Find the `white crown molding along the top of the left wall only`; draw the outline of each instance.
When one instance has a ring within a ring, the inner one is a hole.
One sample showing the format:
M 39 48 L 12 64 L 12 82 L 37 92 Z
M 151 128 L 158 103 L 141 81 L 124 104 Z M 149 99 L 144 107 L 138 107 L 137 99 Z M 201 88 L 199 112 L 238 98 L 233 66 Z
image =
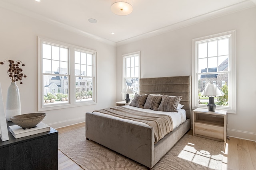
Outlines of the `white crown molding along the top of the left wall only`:
M 23 15 L 31 17 L 31 18 L 35 18 L 37 20 L 44 21 L 46 23 L 50 23 L 52 25 L 56 25 L 58 27 L 62 27 L 63 29 L 66 29 L 68 31 L 72 31 L 74 33 L 78 33 L 79 35 L 82 35 L 84 37 L 88 37 L 90 39 L 94 39 L 96 41 L 100 41 L 100 42 L 108 44 L 108 45 L 116 46 L 116 43 L 113 42 L 113 41 L 110 41 L 108 39 L 104 39 L 104 38 L 99 37 L 97 35 L 90 34 L 90 33 L 86 32 L 86 31 L 82 31 L 81 29 L 77 29 L 77 28 L 72 27 L 70 25 L 58 22 L 56 20 L 52 20 L 50 18 L 47 18 L 47 17 L 44 17 L 42 15 L 36 14 L 36 13 L 31 12 L 29 10 L 25 10 L 25 9 L 20 8 L 18 6 L 15 6 L 15 5 L 12 5 L 12 4 L 0 1 L 0 7 L 5 8 L 5 9 L 10 10 L 10 11 L 13 11 L 13 12 L 17 12 L 19 14 L 23 14 Z

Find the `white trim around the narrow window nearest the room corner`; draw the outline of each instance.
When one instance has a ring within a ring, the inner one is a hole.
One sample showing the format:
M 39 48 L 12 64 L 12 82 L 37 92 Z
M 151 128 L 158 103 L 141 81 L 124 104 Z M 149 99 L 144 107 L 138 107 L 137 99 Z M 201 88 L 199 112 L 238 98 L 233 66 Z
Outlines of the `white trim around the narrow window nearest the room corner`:
M 129 53 L 129 54 L 124 54 L 122 55 L 122 58 L 123 58 L 123 64 L 122 64 L 122 86 L 121 86 L 121 90 L 124 89 L 125 85 L 126 85 L 126 82 L 125 82 L 125 59 L 126 57 L 131 57 L 131 55 L 138 55 L 139 56 L 139 84 L 140 84 L 140 70 L 141 70 L 141 65 L 140 65 L 140 51 L 137 51 L 137 52 L 134 52 L 134 53 Z M 140 88 L 138 89 L 138 91 L 140 91 Z M 126 95 L 125 94 L 122 94 L 122 100 L 125 100 L 126 98 Z

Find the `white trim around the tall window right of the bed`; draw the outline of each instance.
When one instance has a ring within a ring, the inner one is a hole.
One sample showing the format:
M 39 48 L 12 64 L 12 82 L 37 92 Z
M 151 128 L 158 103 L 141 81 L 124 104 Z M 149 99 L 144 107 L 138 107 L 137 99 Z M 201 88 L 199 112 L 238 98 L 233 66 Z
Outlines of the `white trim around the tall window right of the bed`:
M 227 31 L 224 33 L 218 33 L 206 37 L 192 39 L 192 109 L 207 108 L 207 106 L 198 104 L 198 75 L 197 75 L 197 44 L 204 41 L 210 41 L 216 37 L 229 37 L 230 38 L 230 57 L 229 57 L 229 82 L 231 86 L 228 86 L 229 92 L 229 107 L 217 106 L 216 109 L 226 110 L 228 113 L 236 113 L 236 30 Z

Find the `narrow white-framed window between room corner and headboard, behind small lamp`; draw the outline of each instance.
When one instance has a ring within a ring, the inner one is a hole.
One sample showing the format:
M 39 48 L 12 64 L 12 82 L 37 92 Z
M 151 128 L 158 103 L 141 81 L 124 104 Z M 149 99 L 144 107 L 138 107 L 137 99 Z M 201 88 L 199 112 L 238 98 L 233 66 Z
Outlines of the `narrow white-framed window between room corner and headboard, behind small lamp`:
M 130 53 L 123 55 L 123 86 L 130 86 L 133 94 L 130 94 L 130 98 L 134 98 L 135 93 L 139 93 L 139 79 L 140 79 L 140 52 Z M 125 95 L 123 95 L 123 100 Z

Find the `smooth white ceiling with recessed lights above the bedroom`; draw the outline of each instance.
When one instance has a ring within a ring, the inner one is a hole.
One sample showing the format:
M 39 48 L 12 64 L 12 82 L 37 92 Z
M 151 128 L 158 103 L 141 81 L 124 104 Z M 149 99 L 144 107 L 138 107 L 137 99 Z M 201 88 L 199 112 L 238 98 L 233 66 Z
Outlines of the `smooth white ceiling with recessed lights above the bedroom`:
M 0 0 L 0 7 L 57 24 L 87 37 L 122 43 L 255 6 L 256 0 L 122 0 L 127 16 L 112 13 L 118 0 Z M 93 18 L 97 23 L 90 23 Z M 114 32 L 114 34 L 112 34 Z

